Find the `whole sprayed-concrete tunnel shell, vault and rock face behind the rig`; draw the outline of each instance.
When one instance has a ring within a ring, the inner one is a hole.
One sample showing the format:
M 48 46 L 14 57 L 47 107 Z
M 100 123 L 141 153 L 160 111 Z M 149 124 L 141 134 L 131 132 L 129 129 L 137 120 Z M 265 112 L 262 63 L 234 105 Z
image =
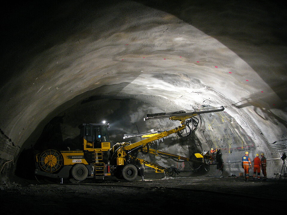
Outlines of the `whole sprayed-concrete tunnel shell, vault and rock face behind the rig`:
M 228 173 L 241 171 L 245 151 L 252 159 L 264 152 L 278 172 L 287 145 L 286 11 L 238 4 L 63 1 L 9 8 L 0 164 L 24 149 L 55 145 L 43 134 L 52 122 L 62 144 L 78 135 L 79 124 L 108 120 L 116 143 L 125 133 L 178 126 L 144 122 L 146 114 L 224 106 L 198 117 L 193 138 L 170 136 L 160 148 L 187 157 L 219 148 Z

